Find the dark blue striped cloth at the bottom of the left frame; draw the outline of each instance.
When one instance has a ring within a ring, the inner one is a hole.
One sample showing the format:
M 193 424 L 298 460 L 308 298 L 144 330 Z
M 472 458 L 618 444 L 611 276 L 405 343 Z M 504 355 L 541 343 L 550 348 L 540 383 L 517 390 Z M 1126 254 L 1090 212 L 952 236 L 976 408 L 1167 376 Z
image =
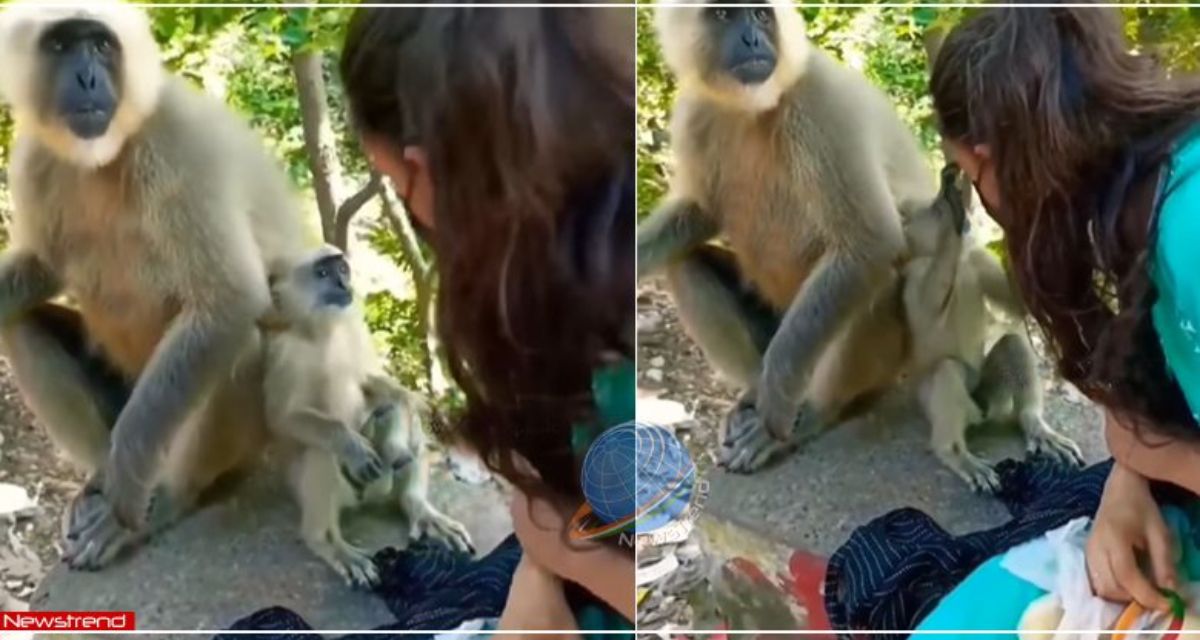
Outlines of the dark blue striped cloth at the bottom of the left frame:
M 509 536 L 491 554 L 478 561 L 434 542 L 419 540 L 403 551 L 384 549 L 376 554 L 380 582 L 376 594 L 383 598 L 396 621 L 376 630 L 454 629 L 470 620 L 499 617 L 509 597 L 512 574 L 521 561 L 521 544 Z M 272 640 L 312 640 L 312 627 L 294 611 L 272 606 L 235 622 L 229 630 L 281 632 L 254 635 Z M 217 635 L 233 640 L 236 635 Z M 342 640 L 379 639 L 388 635 L 346 635 Z M 400 635 L 395 638 L 401 638 Z M 406 639 L 432 635 L 404 635 Z

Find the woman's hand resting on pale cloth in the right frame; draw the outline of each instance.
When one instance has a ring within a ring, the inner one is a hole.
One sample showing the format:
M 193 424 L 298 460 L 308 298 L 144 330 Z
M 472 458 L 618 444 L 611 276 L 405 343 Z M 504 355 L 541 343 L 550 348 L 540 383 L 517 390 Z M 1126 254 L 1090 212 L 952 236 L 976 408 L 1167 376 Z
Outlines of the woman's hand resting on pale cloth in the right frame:
M 1134 599 L 1147 609 L 1168 611 L 1170 603 L 1138 564 L 1139 552 L 1148 552 L 1159 587 L 1176 586 L 1174 538 L 1150 492 L 1150 482 L 1116 462 L 1087 539 L 1092 590 L 1106 600 Z

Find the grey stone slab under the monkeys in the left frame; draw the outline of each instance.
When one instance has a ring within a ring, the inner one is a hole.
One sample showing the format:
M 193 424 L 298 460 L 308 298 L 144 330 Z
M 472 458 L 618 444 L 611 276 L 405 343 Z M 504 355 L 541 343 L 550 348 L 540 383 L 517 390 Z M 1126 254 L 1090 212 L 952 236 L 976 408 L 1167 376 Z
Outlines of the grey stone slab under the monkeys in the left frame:
M 132 610 L 139 630 L 222 629 L 281 605 L 319 629 L 370 629 L 390 622 L 382 600 L 354 591 L 300 542 L 299 513 L 280 473 L 250 478 L 227 498 L 98 573 L 58 564 L 34 610 Z M 470 531 L 480 552 L 511 531 L 508 501 L 493 483 L 470 485 L 434 471 L 432 500 Z M 347 520 L 347 536 L 378 549 L 404 543 L 398 518 Z

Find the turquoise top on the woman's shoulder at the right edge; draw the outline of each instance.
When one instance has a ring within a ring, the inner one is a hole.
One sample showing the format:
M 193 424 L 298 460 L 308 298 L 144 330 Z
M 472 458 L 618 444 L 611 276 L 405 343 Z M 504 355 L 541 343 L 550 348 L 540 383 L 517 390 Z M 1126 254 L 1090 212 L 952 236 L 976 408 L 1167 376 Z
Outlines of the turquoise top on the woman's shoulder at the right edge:
M 1166 365 L 1200 423 L 1200 126 L 1171 157 L 1158 211 L 1152 310 Z

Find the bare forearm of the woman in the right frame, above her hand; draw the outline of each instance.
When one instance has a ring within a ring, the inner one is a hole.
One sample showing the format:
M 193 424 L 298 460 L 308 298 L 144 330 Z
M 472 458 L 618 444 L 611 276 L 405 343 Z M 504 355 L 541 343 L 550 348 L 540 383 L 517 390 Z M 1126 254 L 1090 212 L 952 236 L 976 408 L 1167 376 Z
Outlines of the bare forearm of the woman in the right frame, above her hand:
M 1200 442 L 1172 439 L 1148 429 L 1134 431 L 1109 412 L 1104 435 L 1112 457 L 1126 467 L 1200 495 Z

